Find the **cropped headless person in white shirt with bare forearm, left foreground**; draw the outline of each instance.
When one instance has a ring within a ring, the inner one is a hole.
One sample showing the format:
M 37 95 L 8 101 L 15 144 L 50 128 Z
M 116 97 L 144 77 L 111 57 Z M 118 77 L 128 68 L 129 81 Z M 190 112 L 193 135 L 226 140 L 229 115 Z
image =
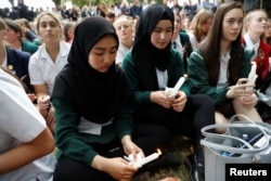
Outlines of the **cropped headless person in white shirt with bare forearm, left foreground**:
M 52 181 L 54 140 L 12 74 L 0 68 L 0 180 Z

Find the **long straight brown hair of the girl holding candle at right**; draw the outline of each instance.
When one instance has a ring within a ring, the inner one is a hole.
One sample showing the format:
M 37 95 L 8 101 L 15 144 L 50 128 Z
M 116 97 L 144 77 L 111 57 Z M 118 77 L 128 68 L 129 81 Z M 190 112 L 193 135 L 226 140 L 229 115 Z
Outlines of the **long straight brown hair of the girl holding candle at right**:
M 241 2 L 232 1 L 229 3 L 222 3 L 216 11 L 216 15 L 212 20 L 212 25 L 207 34 L 205 40 L 199 44 L 199 50 L 204 57 L 206 68 L 208 70 L 209 82 L 211 86 L 216 86 L 219 78 L 220 70 L 220 52 L 221 52 L 221 37 L 223 31 L 224 15 L 233 10 L 241 9 L 243 11 L 243 4 Z M 229 63 L 229 78 L 230 85 L 235 82 L 240 78 L 243 60 L 243 48 L 241 44 L 242 33 L 237 36 L 236 40 L 231 43 L 231 60 Z

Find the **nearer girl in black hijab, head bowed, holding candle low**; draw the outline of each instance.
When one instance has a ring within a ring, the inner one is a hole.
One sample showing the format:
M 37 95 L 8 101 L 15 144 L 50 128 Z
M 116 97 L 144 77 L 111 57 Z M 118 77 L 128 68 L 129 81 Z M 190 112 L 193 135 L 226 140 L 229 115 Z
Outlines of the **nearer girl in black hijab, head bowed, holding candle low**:
M 152 154 L 168 141 L 163 127 L 132 141 L 132 92 L 115 66 L 117 49 L 115 28 L 105 18 L 77 25 L 68 64 L 52 93 L 59 148 L 54 181 L 129 181 L 138 169 L 121 157 Z

